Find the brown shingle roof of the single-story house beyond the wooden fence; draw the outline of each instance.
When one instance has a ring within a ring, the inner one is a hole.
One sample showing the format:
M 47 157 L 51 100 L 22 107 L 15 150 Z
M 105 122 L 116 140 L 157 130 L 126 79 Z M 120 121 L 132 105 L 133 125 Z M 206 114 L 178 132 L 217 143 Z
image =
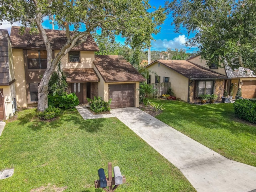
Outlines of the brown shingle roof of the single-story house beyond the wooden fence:
M 190 80 L 199 80 L 199 79 L 228 79 L 227 76 L 208 70 L 197 64 L 192 64 L 186 60 L 156 60 L 151 64 L 159 62 L 168 68 L 182 74 Z M 150 66 L 149 64 L 148 66 Z

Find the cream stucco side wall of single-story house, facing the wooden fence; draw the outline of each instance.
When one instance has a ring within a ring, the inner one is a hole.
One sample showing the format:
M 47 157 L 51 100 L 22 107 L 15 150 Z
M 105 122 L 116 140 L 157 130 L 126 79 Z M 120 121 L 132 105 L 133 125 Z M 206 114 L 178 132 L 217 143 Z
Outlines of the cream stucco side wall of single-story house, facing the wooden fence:
M 157 75 L 160 76 L 160 82 L 164 81 L 164 77 L 169 77 L 171 87 L 174 90 L 176 97 L 188 102 L 188 78 L 164 66 L 163 64 L 158 66 L 158 62 L 151 64 L 147 68 L 156 72 Z M 155 83 L 155 74 L 151 74 L 151 82 Z

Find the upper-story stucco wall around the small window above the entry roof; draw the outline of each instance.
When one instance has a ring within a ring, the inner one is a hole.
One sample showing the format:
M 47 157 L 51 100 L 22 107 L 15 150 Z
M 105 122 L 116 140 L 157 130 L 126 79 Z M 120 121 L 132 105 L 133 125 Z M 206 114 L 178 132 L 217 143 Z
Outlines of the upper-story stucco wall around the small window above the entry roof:
M 59 51 L 54 51 L 56 56 Z M 81 51 L 80 52 L 80 63 L 69 63 L 68 54 L 66 54 L 62 60 L 61 64 L 63 68 L 93 68 L 94 52 L 93 51 Z

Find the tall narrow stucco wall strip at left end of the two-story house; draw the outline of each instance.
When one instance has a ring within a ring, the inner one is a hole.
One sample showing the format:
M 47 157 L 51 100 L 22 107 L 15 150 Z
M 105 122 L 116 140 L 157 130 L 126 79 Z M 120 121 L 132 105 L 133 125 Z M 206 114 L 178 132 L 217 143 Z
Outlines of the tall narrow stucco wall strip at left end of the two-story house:
M 24 69 L 24 58 L 22 49 L 12 49 L 13 54 L 13 68 L 16 78 L 16 102 L 18 107 L 27 107 L 26 98 L 26 80 Z

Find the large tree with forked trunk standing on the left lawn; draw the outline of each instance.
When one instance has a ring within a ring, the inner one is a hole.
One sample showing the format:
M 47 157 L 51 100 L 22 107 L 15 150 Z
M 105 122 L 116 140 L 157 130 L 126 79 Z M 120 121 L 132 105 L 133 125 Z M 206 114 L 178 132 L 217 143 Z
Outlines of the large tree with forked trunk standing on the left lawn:
M 165 19 L 163 8 L 150 8 L 148 0 L 0 0 L 0 22 L 21 22 L 44 40 L 47 68 L 38 86 L 38 110 L 48 107 L 48 82 L 58 62 L 90 33 L 101 30 L 104 36 L 125 37 L 131 47 L 149 46 Z M 54 17 L 54 23 L 66 32 L 67 41 L 54 59 L 42 26 L 45 17 Z M 71 26 L 75 33 L 70 33 Z

